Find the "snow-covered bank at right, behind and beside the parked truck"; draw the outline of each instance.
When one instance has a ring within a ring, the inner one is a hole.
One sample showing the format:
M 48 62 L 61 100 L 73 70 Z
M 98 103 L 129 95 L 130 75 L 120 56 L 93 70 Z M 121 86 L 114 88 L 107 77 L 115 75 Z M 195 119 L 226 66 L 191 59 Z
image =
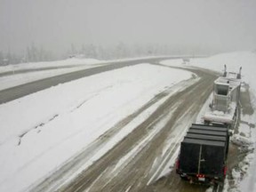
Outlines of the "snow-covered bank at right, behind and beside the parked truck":
M 232 191 L 256 191 L 256 53 L 255 52 L 230 52 L 212 56 L 204 59 L 191 59 L 186 64 L 183 60 L 163 60 L 164 65 L 180 66 L 190 68 L 196 66 L 199 68 L 209 68 L 220 72 L 224 70 L 224 64 L 227 65 L 227 71 L 238 73 L 242 67 L 242 81 L 250 86 L 250 99 L 254 113 L 251 116 L 241 116 L 243 122 L 239 126 L 239 132 L 232 137 L 233 142 L 243 146 L 249 146 L 249 154 L 245 156 L 244 161 L 238 166 L 238 169 L 232 171 L 232 177 L 235 181 L 235 188 Z M 223 72 L 223 71 L 222 71 Z M 241 90 L 244 92 L 244 89 Z M 252 127 L 249 126 L 251 124 Z M 226 185 L 226 189 L 228 186 Z

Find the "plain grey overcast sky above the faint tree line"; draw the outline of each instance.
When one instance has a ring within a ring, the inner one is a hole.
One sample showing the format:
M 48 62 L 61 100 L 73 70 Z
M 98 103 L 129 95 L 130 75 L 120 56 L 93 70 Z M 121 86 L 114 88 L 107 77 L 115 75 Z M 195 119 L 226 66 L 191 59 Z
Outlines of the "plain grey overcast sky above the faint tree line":
M 34 42 L 256 49 L 256 0 L 0 0 L 0 51 Z

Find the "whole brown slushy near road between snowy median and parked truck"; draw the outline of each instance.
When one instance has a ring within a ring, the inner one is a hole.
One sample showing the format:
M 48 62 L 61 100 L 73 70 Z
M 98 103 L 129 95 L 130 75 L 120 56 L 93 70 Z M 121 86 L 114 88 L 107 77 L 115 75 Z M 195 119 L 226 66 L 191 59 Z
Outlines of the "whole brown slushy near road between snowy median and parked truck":
M 168 183 L 164 182 L 164 184 L 156 180 L 161 169 L 164 169 L 164 166 L 172 158 L 176 158 L 175 151 L 179 148 L 182 135 L 186 132 L 186 126 L 195 122 L 198 111 L 212 92 L 212 82 L 217 77 L 216 74 L 206 70 L 188 70 L 201 78 L 198 81 L 191 78 L 187 82 L 182 82 L 183 87 L 187 88 L 180 92 L 173 94 L 172 87 L 170 90 L 160 92 L 145 106 L 131 116 L 124 118 L 98 140 L 95 140 L 90 148 L 85 148 L 68 164 L 54 172 L 52 176 L 39 183 L 31 191 L 153 192 L 160 191 L 158 188 L 165 191 L 174 191 L 174 189 L 177 191 L 205 191 L 205 187 L 190 188 L 186 183 L 180 182 L 177 175 L 173 175 L 172 180 L 169 180 Z M 65 182 L 68 176 L 72 175 L 72 172 L 76 172 L 83 164 L 86 164 L 86 161 L 90 159 L 90 156 L 93 156 L 95 151 L 97 152 L 104 147 L 115 136 L 116 132 L 120 132 L 126 124 L 131 123 L 134 118 L 140 116 L 141 113 L 164 97 L 166 97 L 164 103 L 133 132 L 129 133 L 124 140 L 118 142 L 107 154 L 94 162 L 84 172 L 81 172 L 75 180 Z M 167 123 L 162 124 L 161 122 L 166 118 L 168 119 Z M 157 126 L 157 124 L 162 125 Z M 152 132 L 156 132 L 156 127 L 160 127 L 157 133 L 150 136 Z M 147 139 L 148 137 L 150 139 Z M 167 149 L 165 148 L 166 143 L 170 143 Z M 136 156 L 126 159 L 133 150 L 138 150 Z M 163 151 L 165 151 L 164 154 Z M 122 162 L 122 159 L 126 159 L 126 161 L 116 169 L 116 164 Z M 156 162 L 157 165 L 154 166 Z M 156 180 L 156 186 L 155 182 L 152 185 L 147 185 L 152 178 L 153 181 Z M 171 188 L 170 183 L 172 183 Z

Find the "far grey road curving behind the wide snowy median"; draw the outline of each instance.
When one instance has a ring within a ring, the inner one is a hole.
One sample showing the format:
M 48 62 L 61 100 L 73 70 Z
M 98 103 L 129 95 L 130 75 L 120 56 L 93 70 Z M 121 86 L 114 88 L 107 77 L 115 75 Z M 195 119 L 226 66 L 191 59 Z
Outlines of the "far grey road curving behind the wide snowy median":
M 3 104 L 5 102 L 9 102 L 11 100 L 19 99 L 20 97 L 26 96 L 28 94 L 31 94 L 33 92 L 39 92 L 41 90 L 47 89 L 51 86 L 55 86 L 57 84 L 63 84 L 67 83 L 69 81 L 73 81 L 79 78 L 82 78 L 84 76 L 92 76 L 95 74 L 99 74 L 108 70 L 113 70 L 116 68 L 124 68 L 127 66 L 137 65 L 140 63 L 147 63 L 147 62 L 157 62 L 159 60 L 164 59 L 178 59 L 179 57 L 172 57 L 172 58 L 157 58 L 157 59 L 141 59 L 141 60 L 132 60 L 132 61 L 118 61 L 118 62 L 112 62 L 108 63 L 104 66 L 96 67 L 96 68 L 87 68 L 84 70 L 60 75 L 60 76 L 53 76 L 50 78 L 45 78 L 43 80 L 38 80 L 32 83 L 28 84 L 22 84 L 19 86 L 12 87 L 10 89 L 6 89 L 3 91 L 0 91 L 0 104 Z M 28 71 L 22 71 L 24 75 Z

